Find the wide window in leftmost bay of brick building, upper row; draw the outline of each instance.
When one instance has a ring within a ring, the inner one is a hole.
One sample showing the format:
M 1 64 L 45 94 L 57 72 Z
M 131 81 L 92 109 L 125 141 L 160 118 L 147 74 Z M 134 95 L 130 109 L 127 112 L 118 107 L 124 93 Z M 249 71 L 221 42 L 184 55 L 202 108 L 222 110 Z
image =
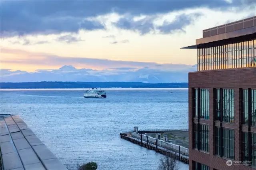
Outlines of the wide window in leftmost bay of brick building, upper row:
M 209 119 L 209 89 L 200 89 L 200 118 Z

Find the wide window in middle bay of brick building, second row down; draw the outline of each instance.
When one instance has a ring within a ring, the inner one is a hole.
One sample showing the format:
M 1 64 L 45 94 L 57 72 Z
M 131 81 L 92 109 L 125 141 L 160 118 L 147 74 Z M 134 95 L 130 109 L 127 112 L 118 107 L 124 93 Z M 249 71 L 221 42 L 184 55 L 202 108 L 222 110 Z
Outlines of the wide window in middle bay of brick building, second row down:
M 223 129 L 223 156 L 234 159 L 234 130 Z

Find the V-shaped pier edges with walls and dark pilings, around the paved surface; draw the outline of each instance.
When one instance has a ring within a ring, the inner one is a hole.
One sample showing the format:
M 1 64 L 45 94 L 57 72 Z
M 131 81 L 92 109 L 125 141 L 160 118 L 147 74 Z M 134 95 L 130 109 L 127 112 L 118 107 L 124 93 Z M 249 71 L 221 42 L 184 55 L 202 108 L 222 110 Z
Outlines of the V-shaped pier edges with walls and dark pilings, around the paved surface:
M 189 152 L 188 148 L 183 146 L 170 143 L 168 141 L 161 140 L 161 133 L 166 132 L 179 132 L 188 131 L 188 129 L 149 129 L 149 130 L 138 130 L 138 127 L 134 127 L 134 130 L 126 131 L 120 133 L 120 138 L 128 140 L 134 144 L 138 144 L 150 150 L 155 150 L 156 152 L 172 156 L 181 162 L 188 164 Z M 150 135 L 158 135 L 159 138 L 153 138 Z M 163 138 L 164 139 L 164 138 Z

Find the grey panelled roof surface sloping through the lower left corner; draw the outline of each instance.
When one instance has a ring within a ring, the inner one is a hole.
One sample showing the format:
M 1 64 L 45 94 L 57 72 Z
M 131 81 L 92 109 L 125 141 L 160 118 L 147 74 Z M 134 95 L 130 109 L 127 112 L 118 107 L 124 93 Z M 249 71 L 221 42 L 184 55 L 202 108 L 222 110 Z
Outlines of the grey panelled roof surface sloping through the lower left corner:
M 67 170 L 18 115 L 0 114 L 3 170 Z

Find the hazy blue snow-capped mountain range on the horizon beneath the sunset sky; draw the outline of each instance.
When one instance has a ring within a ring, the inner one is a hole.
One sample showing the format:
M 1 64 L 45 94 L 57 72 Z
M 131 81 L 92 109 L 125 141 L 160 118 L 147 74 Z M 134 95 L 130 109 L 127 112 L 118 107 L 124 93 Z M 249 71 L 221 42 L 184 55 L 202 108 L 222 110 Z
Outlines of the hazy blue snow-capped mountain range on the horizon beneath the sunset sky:
M 182 83 L 188 82 L 188 72 L 196 71 L 196 65 L 183 68 L 156 69 L 143 67 L 134 69 L 121 67 L 114 69 L 76 69 L 64 65 L 59 69 L 37 70 L 35 72 L 1 69 L 1 82 L 41 82 L 41 81 L 79 81 L 79 82 L 143 82 L 143 83 Z

